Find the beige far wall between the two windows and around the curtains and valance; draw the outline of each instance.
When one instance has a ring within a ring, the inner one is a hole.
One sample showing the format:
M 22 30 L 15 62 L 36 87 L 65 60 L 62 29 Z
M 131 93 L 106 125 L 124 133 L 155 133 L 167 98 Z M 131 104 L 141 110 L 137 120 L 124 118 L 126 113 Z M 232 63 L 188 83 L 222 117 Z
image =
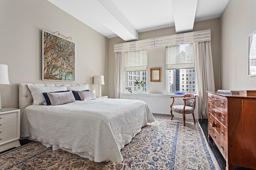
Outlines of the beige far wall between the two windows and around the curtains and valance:
M 204 29 L 211 29 L 212 33 L 212 58 L 214 67 L 214 81 L 215 88 L 220 88 L 220 19 L 213 19 L 207 21 L 200 21 L 194 23 L 193 31 L 200 31 Z M 162 37 L 166 35 L 176 34 L 175 27 L 168 27 L 154 31 L 146 31 L 139 33 L 139 40 L 149 39 L 154 37 Z M 114 97 L 114 44 L 124 43 L 119 37 L 109 39 L 109 96 Z M 162 82 L 150 83 L 148 77 L 147 90 L 150 93 L 165 93 L 165 48 L 154 48 L 148 50 L 148 72 L 151 67 L 162 67 Z M 149 74 L 148 74 L 149 75 Z

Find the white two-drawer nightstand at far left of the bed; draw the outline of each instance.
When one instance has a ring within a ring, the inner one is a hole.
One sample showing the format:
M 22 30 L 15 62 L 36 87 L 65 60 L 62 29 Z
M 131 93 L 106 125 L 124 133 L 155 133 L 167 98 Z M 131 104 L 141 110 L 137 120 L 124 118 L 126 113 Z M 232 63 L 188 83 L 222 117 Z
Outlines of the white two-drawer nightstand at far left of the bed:
M 0 110 L 0 152 L 20 147 L 20 109 L 3 107 Z

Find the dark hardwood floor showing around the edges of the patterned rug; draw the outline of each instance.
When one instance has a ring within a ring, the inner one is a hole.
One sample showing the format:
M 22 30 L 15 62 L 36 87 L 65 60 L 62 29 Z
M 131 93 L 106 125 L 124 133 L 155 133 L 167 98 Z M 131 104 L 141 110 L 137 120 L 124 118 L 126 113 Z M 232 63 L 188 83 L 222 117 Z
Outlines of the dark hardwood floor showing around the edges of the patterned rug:
M 154 114 L 154 115 L 162 115 L 162 114 Z M 166 115 L 164 115 L 164 116 L 166 116 Z M 201 127 L 204 131 L 204 135 L 206 136 L 206 139 L 208 140 L 208 146 L 209 146 L 209 148 L 212 151 L 213 156 L 214 156 L 213 159 L 215 159 L 217 164 L 218 164 L 217 165 L 218 169 L 219 170 L 226 170 L 226 160 L 223 158 L 222 154 L 218 150 L 215 143 L 208 139 L 208 119 L 199 119 L 199 123 L 200 123 L 200 125 L 201 125 Z M 27 140 L 27 139 L 23 139 L 23 140 L 20 140 L 20 145 L 26 145 L 30 142 L 32 142 L 32 141 Z M 8 149 L 8 150 L 11 150 L 11 149 Z M 8 150 L 5 150 L 3 152 L 6 152 Z M 3 152 L 0 152 L 0 154 L 3 153 Z M 252 170 L 252 169 L 236 166 L 236 170 Z

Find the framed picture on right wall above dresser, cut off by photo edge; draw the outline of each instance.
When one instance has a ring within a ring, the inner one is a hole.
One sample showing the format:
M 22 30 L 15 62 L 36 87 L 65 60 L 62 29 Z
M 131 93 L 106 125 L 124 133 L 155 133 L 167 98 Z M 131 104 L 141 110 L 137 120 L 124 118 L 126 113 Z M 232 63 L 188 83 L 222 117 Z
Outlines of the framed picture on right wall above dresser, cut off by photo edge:
M 248 76 L 256 76 L 256 31 L 248 36 Z

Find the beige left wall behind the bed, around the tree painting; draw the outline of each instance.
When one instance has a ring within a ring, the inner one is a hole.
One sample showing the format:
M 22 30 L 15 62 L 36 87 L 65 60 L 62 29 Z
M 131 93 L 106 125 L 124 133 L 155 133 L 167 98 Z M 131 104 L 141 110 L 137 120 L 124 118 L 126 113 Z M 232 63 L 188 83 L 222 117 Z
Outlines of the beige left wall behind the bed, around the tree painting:
M 10 80 L 9 85 L 0 85 L 2 107 L 18 107 L 21 82 L 93 84 L 94 75 L 104 75 L 102 95 L 108 95 L 106 37 L 47 0 L 1 0 L 0 18 L 0 63 L 8 65 Z M 42 80 L 42 30 L 72 37 L 75 82 Z

